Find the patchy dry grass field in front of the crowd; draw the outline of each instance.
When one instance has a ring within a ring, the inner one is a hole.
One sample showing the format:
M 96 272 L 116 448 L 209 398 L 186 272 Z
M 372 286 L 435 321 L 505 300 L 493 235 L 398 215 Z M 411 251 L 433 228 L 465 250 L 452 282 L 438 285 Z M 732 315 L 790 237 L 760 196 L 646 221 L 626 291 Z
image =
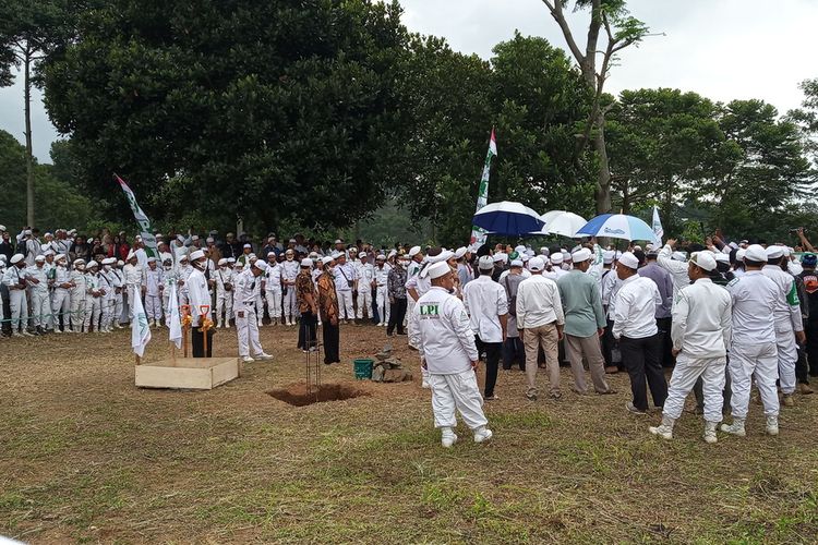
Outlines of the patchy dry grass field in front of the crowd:
M 146 361 L 165 358 L 155 334 Z M 397 338 L 396 352 L 417 358 Z M 429 392 L 360 383 L 366 396 L 303 408 L 266 391 L 303 380 L 294 328 L 262 329 L 272 363 L 206 392 L 133 385 L 130 332 L 0 341 L 0 534 L 33 543 L 815 543 L 818 395 L 796 397 L 781 435 L 751 405 L 746 438 L 673 441 L 615 396 L 525 400 L 501 373 L 494 439 L 466 428 L 440 447 Z M 382 328 L 341 328 L 345 362 Z M 234 329 L 215 355 L 236 354 Z M 352 380 L 351 363 L 324 382 Z M 540 376 L 544 385 L 545 376 Z

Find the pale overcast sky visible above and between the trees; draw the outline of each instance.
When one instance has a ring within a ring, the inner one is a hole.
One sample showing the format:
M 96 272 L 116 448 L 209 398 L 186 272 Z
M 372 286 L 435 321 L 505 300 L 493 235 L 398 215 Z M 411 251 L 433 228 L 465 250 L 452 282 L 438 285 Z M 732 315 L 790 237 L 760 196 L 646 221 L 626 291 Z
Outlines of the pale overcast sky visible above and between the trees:
M 443 36 L 454 49 L 485 59 L 515 29 L 565 46 L 541 0 L 404 0 L 402 5 L 411 31 Z M 783 113 L 799 106 L 798 83 L 818 77 L 818 0 L 630 0 L 628 5 L 664 36 L 623 51 L 608 84 L 612 93 L 674 87 L 721 101 L 760 98 Z M 579 39 L 586 21 L 587 14 L 572 14 Z M 34 153 L 47 162 L 57 132 L 35 96 Z M 23 126 L 22 86 L 0 89 L 0 129 L 23 142 Z

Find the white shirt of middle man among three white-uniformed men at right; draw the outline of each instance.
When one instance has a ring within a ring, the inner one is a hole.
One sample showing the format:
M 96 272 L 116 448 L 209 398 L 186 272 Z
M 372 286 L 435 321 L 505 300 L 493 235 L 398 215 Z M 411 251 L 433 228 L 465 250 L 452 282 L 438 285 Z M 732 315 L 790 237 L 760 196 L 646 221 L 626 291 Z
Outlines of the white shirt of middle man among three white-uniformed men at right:
M 748 270 L 734 278 L 727 291 L 733 299 L 733 344 L 775 342 L 775 282 L 760 270 Z

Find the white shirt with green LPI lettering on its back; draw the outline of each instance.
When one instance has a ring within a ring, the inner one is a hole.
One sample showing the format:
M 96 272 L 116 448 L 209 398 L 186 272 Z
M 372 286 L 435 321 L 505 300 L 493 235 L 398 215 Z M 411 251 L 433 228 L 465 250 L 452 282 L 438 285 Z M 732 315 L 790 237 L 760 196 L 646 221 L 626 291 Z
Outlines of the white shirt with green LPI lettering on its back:
M 478 361 L 474 334 L 462 302 L 440 287 L 424 293 L 412 310 L 418 327 L 412 344 L 425 360 L 429 373 L 454 375 L 471 370 Z

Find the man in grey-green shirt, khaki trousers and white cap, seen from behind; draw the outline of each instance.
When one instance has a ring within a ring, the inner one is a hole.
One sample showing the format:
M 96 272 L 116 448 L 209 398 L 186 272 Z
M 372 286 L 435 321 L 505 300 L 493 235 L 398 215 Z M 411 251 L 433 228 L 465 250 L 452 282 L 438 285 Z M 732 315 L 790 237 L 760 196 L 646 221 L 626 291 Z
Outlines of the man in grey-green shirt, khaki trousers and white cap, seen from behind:
M 615 393 L 605 382 L 600 337 L 606 320 L 599 282 L 587 274 L 591 257 L 591 251 L 587 247 L 574 252 L 574 269 L 556 282 L 565 311 L 565 352 L 574 373 L 574 391 L 582 395 L 588 391 L 582 367 L 585 356 L 597 393 Z

